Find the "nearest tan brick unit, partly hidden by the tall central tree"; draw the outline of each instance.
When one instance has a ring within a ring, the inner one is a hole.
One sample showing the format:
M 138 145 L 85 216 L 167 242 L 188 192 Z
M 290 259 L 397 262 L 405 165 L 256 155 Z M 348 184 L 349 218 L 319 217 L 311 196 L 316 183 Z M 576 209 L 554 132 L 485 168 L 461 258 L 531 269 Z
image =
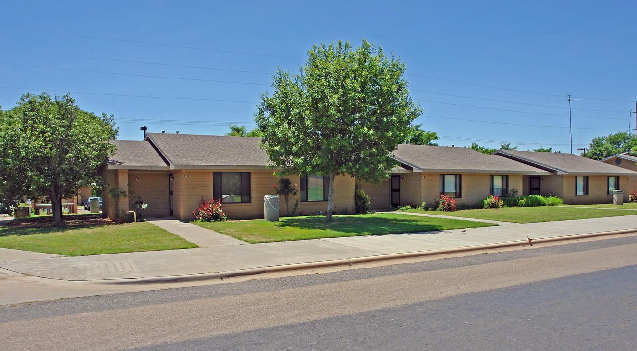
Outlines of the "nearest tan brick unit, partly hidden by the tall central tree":
M 147 216 L 173 216 L 191 220 L 197 202 L 222 201 L 229 218 L 263 218 L 263 197 L 275 194 L 281 177 L 268 168 L 261 138 L 196 134 L 148 133 L 144 141 L 113 140 L 117 147 L 108 161 L 106 177 L 111 187 L 140 196 L 148 204 Z M 320 175 L 285 176 L 299 190 L 290 200 L 290 210 L 315 214 L 327 210 L 326 181 Z M 354 210 L 354 179 L 337 176 L 334 181 L 334 211 Z M 104 199 L 104 211 L 113 203 Z M 281 213 L 286 214 L 281 201 Z M 120 210 L 133 204 L 120 203 Z

